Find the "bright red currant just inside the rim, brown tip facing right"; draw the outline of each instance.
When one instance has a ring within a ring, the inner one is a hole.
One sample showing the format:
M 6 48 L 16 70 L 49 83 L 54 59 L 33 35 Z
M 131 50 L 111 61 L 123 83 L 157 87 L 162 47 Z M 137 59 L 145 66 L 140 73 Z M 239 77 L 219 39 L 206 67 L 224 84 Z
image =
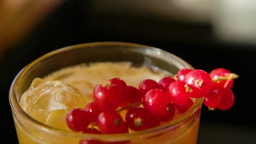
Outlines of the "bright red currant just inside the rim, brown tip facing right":
M 191 88 L 183 81 L 174 81 L 167 89 L 170 100 L 174 104 L 184 104 L 190 99 Z

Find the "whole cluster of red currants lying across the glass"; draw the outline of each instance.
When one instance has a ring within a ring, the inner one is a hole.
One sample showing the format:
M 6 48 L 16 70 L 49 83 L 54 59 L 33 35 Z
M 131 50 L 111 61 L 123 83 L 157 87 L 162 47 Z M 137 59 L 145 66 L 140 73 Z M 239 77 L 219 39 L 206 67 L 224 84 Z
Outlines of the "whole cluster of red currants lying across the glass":
M 224 68 L 209 74 L 200 69 L 181 69 L 174 77 L 166 76 L 159 82 L 143 80 L 138 88 L 115 77 L 94 89 L 94 101 L 85 109 L 70 110 L 67 125 L 73 131 L 92 134 L 145 130 L 170 121 L 176 112 L 186 112 L 193 98 L 202 97 L 210 110 L 228 110 L 234 105 L 231 88 L 237 77 Z M 124 118 L 120 115 L 123 110 L 127 111 Z

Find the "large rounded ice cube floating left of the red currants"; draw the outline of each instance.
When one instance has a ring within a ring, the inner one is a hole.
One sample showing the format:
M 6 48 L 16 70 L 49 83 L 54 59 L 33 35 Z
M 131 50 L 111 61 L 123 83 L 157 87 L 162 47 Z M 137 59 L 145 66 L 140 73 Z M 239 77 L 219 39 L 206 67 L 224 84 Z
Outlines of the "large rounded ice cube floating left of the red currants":
M 20 105 L 28 115 L 45 123 L 51 111 L 69 111 L 75 107 L 84 109 L 90 101 L 90 97 L 84 96 L 78 88 L 72 85 L 37 78 L 22 95 Z

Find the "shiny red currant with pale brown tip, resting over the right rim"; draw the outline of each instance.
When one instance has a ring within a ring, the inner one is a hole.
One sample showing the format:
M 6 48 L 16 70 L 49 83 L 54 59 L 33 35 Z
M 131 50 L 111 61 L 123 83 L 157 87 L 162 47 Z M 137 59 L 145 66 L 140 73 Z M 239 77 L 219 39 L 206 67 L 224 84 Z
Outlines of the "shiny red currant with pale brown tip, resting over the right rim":
M 192 94 L 193 98 L 201 98 L 208 94 L 212 89 L 212 78 L 206 73 L 206 71 L 201 69 L 196 69 L 190 71 L 185 77 L 184 82 L 191 86 L 197 88 L 200 94 Z

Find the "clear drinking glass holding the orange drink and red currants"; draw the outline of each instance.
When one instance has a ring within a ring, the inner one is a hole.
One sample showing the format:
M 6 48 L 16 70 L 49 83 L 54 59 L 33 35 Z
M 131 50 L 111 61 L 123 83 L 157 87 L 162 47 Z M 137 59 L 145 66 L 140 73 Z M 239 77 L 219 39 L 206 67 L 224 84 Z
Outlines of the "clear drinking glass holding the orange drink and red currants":
M 63 144 L 82 143 L 82 140 L 99 140 L 105 143 L 196 143 L 202 98 L 196 99 L 190 109 L 178 119 L 130 134 L 83 134 L 53 128 L 36 121 L 19 105 L 22 94 L 36 77 L 44 77 L 56 70 L 82 63 L 123 61 L 132 62 L 134 67 L 157 67 L 172 75 L 183 68 L 193 69 L 189 63 L 170 52 L 119 41 L 78 44 L 46 53 L 27 64 L 11 83 L 9 102 L 19 143 Z

